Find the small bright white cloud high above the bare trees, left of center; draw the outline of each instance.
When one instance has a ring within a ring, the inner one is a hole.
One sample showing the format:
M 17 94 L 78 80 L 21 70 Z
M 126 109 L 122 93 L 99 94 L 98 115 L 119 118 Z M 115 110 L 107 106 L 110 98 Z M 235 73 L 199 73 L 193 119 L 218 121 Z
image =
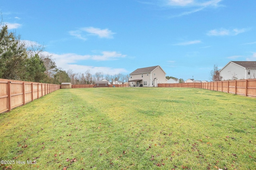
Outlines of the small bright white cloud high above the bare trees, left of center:
M 100 29 L 94 27 L 84 27 L 81 28 L 81 30 L 91 33 L 92 35 L 98 35 L 100 38 L 113 38 L 113 34 L 115 34 L 109 29 Z

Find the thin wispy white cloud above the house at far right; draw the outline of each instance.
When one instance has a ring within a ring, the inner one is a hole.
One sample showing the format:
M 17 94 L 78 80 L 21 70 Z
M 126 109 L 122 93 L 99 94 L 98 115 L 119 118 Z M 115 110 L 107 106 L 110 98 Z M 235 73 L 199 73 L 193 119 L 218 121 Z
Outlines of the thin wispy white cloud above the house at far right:
M 248 31 L 248 29 L 242 28 L 242 29 L 212 29 L 206 33 L 209 36 L 225 36 L 225 35 L 238 35 L 240 33 L 244 33 Z

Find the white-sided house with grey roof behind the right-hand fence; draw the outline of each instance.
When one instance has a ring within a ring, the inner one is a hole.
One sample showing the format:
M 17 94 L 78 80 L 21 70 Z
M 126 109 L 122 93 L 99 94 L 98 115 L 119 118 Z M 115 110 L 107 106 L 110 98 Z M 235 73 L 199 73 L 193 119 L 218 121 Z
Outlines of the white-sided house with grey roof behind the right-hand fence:
M 230 61 L 220 69 L 222 80 L 256 78 L 256 61 Z

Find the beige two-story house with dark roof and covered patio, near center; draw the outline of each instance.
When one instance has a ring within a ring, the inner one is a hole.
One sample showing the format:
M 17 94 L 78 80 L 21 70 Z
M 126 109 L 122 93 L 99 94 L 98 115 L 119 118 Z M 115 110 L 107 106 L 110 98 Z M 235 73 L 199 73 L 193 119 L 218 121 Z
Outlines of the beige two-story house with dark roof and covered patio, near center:
M 138 68 L 130 73 L 130 86 L 157 87 L 158 83 L 166 83 L 166 72 L 160 66 Z

